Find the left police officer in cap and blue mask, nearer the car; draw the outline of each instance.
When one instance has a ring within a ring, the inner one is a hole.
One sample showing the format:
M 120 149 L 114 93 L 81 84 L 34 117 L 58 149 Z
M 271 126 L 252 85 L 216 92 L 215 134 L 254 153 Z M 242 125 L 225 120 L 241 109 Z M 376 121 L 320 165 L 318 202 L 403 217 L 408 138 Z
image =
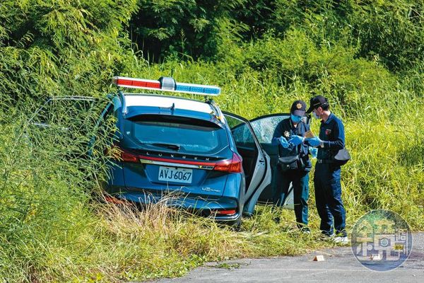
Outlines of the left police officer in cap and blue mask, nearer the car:
M 293 183 L 296 222 L 298 228 L 309 233 L 307 200 L 312 164 L 308 156 L 309 146 L 303 143 L 305 132 L 310 129 L 302 120 L 305 112 L 306 103 L 296 100 L 290 108 L 290 117 L 279 122 L 273 133 L 272 144 L 278 145 L 280 157 L 298 156 L 298 160 L 285 165 L 284 169 L 278 167 L 274 172 L 276 183 L 273 202 L 276 206 L 282 206 L 288 195 L 290 183 Z

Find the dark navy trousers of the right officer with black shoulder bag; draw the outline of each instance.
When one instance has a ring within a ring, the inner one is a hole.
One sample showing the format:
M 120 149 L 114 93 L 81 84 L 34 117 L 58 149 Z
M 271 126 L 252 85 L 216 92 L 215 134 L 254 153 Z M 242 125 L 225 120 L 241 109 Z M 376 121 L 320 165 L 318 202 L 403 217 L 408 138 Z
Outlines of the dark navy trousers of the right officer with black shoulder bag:
M 321 218 L 322 233 L 330 236 L 333 229 L 346 236 L 346 211 L 341 201 L 340 167 L 317 163 L 314 174 L 315 201 Z M 333 228 L 334 219 L 334 228 Z

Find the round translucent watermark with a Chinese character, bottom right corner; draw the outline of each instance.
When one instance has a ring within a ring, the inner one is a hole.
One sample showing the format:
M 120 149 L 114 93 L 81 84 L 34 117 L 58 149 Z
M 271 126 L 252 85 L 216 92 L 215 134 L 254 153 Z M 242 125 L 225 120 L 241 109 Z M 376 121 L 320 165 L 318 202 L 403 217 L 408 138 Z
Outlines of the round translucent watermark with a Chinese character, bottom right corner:
M 399 214 L 372 210 L 353 226 L 351 247 L 355 258 L 370 270 L 393 270 L 411 253 L 412 234 Z

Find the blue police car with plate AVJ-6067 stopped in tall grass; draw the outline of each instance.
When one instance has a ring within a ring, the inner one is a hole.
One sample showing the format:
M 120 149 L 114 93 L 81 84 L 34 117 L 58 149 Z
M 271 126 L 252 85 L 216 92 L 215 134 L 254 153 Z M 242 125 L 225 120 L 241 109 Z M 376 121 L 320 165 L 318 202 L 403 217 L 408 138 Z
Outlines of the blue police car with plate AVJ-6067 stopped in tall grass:
M 117 86 L 216 96 L 220 89 L 115 77 Z M 120 200 L 183 207 L 218 221 L 252 214 L 271 183 L 270 158 L 249 122 L 221 112 L 213 100 L 119 91 L 111 113 L 119 156 L 106 191 Z M 235 139 L 237 137 L 237 139 Z

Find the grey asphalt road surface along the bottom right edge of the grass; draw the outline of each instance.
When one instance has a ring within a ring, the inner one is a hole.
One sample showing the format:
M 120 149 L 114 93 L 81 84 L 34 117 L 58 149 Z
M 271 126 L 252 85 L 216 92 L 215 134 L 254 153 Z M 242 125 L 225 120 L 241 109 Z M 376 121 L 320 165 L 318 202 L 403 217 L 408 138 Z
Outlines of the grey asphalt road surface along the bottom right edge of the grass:
M 324 255 L 324 261 L 313 261 Z M 424 282 L 424 232 L 413 234 L 408 260 L 394 270 L 368 270 L 351 247 L 319 250 L 295 257 L 208 262 L 188 275 L 156 282 Z

